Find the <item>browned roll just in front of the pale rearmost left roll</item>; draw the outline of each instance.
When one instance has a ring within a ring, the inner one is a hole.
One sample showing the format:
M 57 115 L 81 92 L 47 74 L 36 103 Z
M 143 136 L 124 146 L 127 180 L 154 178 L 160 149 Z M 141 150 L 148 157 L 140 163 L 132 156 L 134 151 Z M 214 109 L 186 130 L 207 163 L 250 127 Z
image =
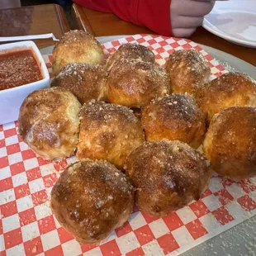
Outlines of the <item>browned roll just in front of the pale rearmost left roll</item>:
M 51 87 L 69 89 L 83 104 L 92 99 L 107 99 L 107 70 L 97 64 L 66 64 Z

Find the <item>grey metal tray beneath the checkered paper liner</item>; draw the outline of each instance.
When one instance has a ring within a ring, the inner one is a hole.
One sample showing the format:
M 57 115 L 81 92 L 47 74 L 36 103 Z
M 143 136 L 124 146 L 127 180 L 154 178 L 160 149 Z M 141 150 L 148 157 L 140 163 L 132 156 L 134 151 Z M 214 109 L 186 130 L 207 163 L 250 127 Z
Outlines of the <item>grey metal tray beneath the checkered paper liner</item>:
M 99 36 L 97 40 L 104 44 L 107 41 L 118 40 L 126 35 L 121 36 Z M 200 45 L 200 44 L 198 44 Z M 215 48 L 200 45 L 203 50 L 206 50 L 212 57 L 217 59 L 225 69 L 236 72 L 244 72 L 249 74 L 251 78 L 256 80 L 256 67 L 252 64 L 245 62 L 242 59 L 236 58 L 233 55 L 229 55 L 221 50 Z M 50 55 L 53 51 L 54 46 L 49 46 L 40 50 L 42 55 Z M 226 230 L 220 235 L 216 235 L 212 239 L 197 245 L 196 247 L 187 250 L 187 252 L 180 254 L 183 256 L 244 256 L 244 255 L 255 255 L 255 239 L 256 234 L 256 216 L 239 225 L 235 225 L 230 230 Z M 156 255 L 157 256 L 157 255 Z

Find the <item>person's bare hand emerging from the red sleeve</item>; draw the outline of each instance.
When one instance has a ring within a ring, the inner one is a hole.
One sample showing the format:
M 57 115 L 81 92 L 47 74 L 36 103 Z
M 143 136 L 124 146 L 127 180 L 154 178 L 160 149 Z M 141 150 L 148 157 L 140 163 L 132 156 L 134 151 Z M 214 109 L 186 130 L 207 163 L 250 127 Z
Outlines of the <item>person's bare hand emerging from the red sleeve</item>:
M 214 4 L 215 1 L 211 0 L 172 0 L 170 13 L 173 35 L 191 36 Z

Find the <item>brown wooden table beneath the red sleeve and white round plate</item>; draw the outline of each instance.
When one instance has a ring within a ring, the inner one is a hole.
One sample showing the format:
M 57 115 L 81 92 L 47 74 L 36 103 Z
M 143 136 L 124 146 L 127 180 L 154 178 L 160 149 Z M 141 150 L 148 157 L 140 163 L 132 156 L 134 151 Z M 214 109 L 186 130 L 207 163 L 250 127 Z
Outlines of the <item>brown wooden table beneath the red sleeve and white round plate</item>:
M 73 4 L 72 14 L 76 26 L 79 29 L 91 32 L 94 36 L 154 34 L 153 31 L 145 27 L 135 26 L 129 22 L 121 21 L 121 19 L 112 13 L 92 11 L 76 3 Z M 232 44 L 211 34 L 203 27 L 199 27 L 190 39 L 199 44 L 223 50 L 230 55 L 244 59 L 256 66 L 256 49 Z

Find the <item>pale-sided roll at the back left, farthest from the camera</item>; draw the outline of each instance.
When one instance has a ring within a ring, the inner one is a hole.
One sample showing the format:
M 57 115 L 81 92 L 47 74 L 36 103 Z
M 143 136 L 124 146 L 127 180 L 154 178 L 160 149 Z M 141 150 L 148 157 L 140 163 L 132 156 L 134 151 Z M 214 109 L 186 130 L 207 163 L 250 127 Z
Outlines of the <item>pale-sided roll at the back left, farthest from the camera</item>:
M 69 63 L 103 64 L 102 46 L 86 31 L 65 33 L 53 50 L 53 74 L 57 75 L 60 69 Z

